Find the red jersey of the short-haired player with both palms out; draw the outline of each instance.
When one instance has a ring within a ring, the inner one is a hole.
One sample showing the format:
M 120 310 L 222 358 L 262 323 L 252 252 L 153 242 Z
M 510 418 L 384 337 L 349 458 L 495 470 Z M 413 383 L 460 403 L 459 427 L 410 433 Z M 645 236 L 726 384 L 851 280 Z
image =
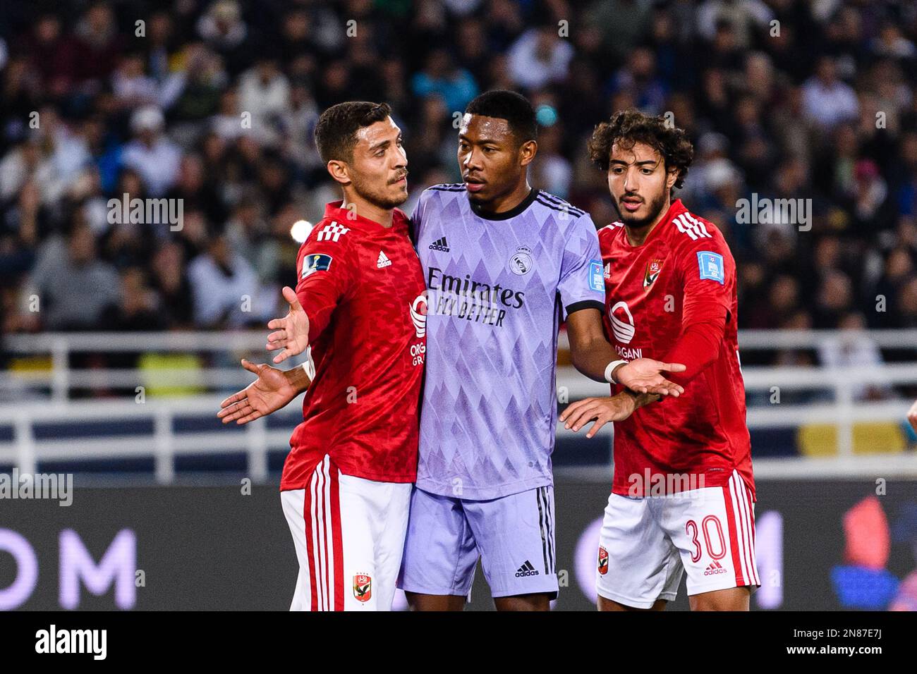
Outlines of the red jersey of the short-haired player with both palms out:
M 290 438 L 281 491 L 304 489 L 326 454 L 345 475 L 413 482 L 426 350 L 424 273 L 395 209 L 392 227 L 341 202 L 299 249 L 315 378 Z

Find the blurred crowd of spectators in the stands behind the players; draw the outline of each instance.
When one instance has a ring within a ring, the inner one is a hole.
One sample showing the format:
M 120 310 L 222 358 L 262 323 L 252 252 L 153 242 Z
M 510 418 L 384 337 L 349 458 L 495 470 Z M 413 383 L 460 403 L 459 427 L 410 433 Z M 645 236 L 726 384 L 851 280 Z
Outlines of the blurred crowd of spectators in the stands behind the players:
M 492 88 L 536 105 L 532 182 L 599 227 L 594 125 L 634 106 L 687 129 L 679 196 L 730 242 L 741 327 L 917 327 L 915 41 L 895 0 L 4 3 L 0 332 L 263 326 L 293 223 L 337 198 L 321 111 L 392 105 L 413 202 L 460 180 L 454 121 Z M 112 222 L 124 194 L 181 199 L 182 227 Z

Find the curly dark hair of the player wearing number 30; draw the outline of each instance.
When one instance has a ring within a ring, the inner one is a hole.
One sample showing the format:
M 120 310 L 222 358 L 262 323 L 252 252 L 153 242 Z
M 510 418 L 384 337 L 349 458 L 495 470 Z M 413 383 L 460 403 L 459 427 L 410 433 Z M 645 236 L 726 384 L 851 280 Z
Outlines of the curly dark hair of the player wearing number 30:
M 674 187 L 680 188 L 694 160 L 694 146 L 684 129 L 669 126 L 663 116 L 645 115 L 639 110 L 622 110 L 614 113 L 610 122 L 602 122 L 592 131 L 589 140 L 589 158 L 602 171 L 608 171 L 612 146 L 617 143 L 633 148 L 636 143 L 646 143 L 656 149 L 666 162 L 666 171 L 678 170 Z

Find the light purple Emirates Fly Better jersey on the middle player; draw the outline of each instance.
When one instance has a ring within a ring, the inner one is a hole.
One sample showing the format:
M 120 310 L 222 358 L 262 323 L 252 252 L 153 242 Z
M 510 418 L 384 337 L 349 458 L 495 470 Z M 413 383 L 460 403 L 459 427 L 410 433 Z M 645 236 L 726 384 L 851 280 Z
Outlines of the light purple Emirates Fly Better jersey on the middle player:
M 456 183 L 425 190 L 413 220 L 427 288 L 417 486 L 483 501 L 552 484 L 558 322 L 604 310 L 590 216 L 532 190 L 484 217 Z

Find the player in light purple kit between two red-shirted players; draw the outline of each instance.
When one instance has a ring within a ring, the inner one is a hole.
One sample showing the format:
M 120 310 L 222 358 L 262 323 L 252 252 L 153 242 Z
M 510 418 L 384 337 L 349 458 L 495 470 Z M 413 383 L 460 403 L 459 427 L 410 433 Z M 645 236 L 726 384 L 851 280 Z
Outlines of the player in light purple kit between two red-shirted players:
M 606 341 L 595 226 L 529 185 L 536 151 L 529 102 L 481 94 L 459 128 L 464 182 L 425 190 L 412 217 L 427 286 L 427 360 L 399 587 L 415 610 L 462 610 L 479 558 L 498 610 L 548 610 L 557 596 L 560 320 L 580 372 L 630 389 L 591 433 L 652 393 L 681 392 L 660 372 L 682 366 L 625 364 Z

